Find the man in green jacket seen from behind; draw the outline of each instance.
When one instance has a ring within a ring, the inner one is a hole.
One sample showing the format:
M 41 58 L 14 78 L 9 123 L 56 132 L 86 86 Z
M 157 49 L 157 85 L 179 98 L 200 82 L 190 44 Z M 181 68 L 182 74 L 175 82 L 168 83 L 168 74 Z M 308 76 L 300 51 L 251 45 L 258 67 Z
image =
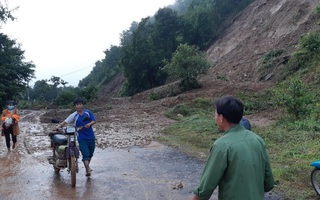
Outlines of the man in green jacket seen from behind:
M 207 200 L 216 187 L 219 199 L 263 200 L 273 189 L 269 155 L 261 137 L 239 124 L 243 103 L 231 96 L 215 101 L 215 121 L 224 135 L 211 147 L 193 200 Z

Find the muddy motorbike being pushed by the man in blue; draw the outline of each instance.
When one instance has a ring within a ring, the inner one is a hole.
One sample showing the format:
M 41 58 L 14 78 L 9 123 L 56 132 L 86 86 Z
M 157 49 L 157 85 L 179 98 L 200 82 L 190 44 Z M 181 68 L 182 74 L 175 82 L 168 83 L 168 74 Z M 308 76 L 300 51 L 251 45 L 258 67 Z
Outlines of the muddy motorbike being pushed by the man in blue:
M 76 174 L 79 172 L 79 148 L 77 144 L 77 127 L 68 126 L 49 133 L 52 156 L 48 158 L 56 173 L 67 169 L 71 175 L 71 186 L 76 185 Z

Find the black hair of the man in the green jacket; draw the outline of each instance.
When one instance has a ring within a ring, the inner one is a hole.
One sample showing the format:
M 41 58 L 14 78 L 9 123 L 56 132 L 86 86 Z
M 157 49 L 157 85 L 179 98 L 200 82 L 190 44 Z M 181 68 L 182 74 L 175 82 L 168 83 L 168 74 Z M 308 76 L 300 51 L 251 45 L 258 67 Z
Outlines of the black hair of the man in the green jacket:
M 243 103 L 232 96 L 222 97 L 214 102 L 218 114 L 222 115 L 230 123 L 239 124 L 242 116 Z

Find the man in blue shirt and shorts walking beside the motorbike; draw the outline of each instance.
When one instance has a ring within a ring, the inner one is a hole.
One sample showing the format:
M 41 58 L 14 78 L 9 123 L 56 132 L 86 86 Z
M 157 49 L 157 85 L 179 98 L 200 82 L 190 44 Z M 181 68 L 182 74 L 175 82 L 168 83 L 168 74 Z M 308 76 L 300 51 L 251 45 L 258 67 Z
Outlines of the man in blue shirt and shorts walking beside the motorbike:
M 57 128 L 62 128 L 66 124 L 74 123 L 78 128 L 78 142 L 82 154 L 82 161 L 86 169 L 86 176 L 91 176 L 92 169 L 90 162 L 95 150 L 95 134 L 92 125 L 96 123 L 96 118 L 93 113 L 84 108 L 84 100 L 76 98 L 73 101 L 75 112 L 69 115 Z

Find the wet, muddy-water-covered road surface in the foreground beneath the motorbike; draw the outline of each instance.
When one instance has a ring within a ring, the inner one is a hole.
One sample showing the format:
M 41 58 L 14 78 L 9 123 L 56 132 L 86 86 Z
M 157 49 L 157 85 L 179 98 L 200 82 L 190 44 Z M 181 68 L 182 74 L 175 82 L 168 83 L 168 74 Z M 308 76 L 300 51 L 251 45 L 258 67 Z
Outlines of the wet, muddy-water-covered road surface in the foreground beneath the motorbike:
M 7 151 L 0 138 L 0 199 L 191 199 L 203 163 L 157 142 L 139 147 L 96 148 L 90 178 L 79 161 L 76 187 L 67 170 L 55 173 L 48 125 L 41 112 L 25 112 L 16 149 Z M 211 199 L 217 199 L 214 193 Z M 279 199 L 267 194 L 265 199 Z

